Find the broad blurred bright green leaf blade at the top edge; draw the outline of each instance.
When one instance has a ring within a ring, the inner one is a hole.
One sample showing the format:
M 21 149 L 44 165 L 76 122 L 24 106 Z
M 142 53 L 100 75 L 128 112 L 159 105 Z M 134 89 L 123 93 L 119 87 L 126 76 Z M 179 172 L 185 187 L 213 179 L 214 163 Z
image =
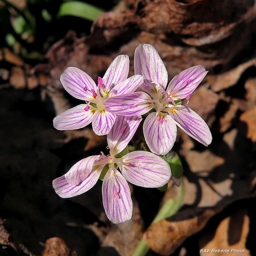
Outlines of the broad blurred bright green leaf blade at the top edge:
M 104 11 L 94 5 L 80 2 L 80 1 L 68 1 L 60 5 L 58 16 L 76 16 L 90 21 L 97 19 Z

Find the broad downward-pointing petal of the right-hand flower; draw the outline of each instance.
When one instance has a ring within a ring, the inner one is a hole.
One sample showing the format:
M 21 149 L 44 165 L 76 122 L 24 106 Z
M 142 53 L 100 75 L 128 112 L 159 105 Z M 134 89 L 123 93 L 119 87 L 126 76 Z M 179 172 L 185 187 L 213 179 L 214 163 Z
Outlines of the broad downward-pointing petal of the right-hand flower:
M 143 133 L 145 141 L 153 153 L 166 155 L 176 140 L 177 127 L 168 114 L 153 112 L 144 121 Z

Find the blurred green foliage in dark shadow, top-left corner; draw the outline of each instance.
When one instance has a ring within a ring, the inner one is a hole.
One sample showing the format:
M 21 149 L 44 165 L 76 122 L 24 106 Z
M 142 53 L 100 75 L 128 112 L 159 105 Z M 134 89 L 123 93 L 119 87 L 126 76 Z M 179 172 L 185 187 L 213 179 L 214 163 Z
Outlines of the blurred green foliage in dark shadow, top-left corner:
M 69 30 L 89 35 L 92 22 L 114 1 L 24 0 L 21 10 L 11 0 L 0 0 L 0 47 L 12 48 L 34 65 Z

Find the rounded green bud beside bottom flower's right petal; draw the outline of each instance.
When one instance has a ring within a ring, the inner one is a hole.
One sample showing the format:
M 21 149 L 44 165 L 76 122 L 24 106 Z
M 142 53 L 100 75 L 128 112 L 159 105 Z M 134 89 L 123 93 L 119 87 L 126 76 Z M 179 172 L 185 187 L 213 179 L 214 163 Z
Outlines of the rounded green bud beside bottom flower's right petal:
M 175 151 L 171 150 L 165 156 L 160 157 L 169 163 L 172 171 L 172 176 L 176 179 L 180 179 L 183 174 L 183 167 L 179 155 Z

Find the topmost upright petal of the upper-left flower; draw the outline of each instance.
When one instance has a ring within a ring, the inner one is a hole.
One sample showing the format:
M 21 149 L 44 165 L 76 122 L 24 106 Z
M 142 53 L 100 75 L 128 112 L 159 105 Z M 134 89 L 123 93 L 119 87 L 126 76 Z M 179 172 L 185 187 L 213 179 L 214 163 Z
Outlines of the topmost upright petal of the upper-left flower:
M 112 61 L 102 77 L 102 81 L 105 85 L 105 89 L 103 89 L 104 93 L 109 92 L 116 84 L 127 79 L 130 68 L 129 62 L 128 55 L 124 54 L 118 55 Z

